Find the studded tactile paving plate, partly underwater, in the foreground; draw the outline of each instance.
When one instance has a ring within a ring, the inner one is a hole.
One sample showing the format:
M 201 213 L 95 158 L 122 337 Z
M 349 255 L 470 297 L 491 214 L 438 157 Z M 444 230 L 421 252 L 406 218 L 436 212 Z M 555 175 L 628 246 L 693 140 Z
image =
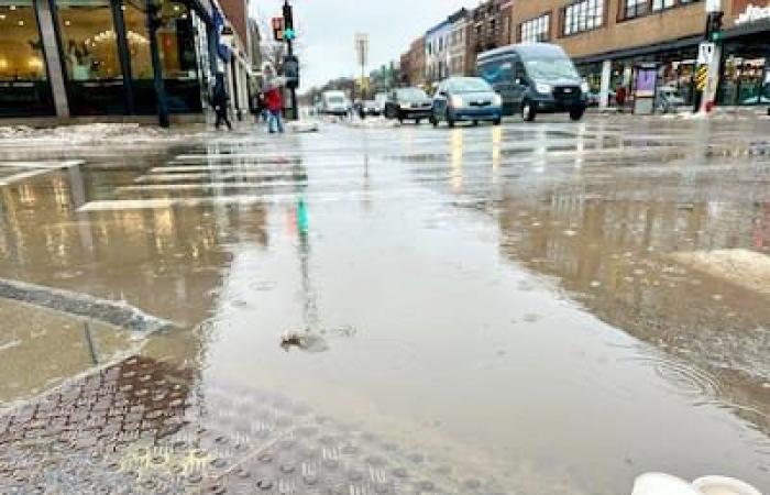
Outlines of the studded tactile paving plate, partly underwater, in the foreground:
M 130 358 L 0 417 L 0 493 L 496 494 L 284 396 Z

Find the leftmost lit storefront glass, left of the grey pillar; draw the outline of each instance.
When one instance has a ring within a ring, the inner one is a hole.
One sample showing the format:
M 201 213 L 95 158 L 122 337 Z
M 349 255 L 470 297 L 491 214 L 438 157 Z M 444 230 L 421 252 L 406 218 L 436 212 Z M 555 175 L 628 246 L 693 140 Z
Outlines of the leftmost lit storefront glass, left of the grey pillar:
M 32 0 L 0 0 L 0 117 L 53 114 Z

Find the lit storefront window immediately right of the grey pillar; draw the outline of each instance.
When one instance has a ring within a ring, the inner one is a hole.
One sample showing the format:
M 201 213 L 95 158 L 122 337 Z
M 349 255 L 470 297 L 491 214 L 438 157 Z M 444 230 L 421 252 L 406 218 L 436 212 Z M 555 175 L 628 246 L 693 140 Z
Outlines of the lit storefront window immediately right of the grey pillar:
M 56 0 L 75 114 L 123 113 L 123 72 L 109 0 Z

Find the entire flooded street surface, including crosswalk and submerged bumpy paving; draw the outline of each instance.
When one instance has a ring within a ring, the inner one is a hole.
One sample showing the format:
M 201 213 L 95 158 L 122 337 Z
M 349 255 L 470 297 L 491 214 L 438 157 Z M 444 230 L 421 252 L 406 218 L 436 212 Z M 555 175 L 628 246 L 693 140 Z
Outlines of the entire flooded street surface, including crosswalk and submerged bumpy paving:
M 769 131 L 2 146 L 0 491 L 767 491 Z

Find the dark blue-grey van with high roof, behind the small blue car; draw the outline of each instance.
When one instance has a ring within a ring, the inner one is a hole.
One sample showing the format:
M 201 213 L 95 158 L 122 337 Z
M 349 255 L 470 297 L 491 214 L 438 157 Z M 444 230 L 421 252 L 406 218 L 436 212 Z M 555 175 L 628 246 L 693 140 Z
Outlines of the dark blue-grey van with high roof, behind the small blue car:
M 477 74 L 503 97 L 505 114 L 532 121 L 538 113 L 569 112 L 580 120 L 588 84 L 564 51 L 550 43 L 509 45 L 479 55 Z

